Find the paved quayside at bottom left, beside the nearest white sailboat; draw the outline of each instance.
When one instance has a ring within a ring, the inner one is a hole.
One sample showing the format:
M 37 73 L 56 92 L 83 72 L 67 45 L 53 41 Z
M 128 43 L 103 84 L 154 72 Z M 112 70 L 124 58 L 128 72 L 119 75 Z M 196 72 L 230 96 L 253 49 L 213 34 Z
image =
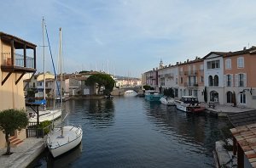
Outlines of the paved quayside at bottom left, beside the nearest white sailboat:
M 0 167 L 26 167 L 44 151 L 45 138 L 28 137 L 18 147 L 10 148 L 11 155 L 3 155 L 6 148 L 0 148 Z

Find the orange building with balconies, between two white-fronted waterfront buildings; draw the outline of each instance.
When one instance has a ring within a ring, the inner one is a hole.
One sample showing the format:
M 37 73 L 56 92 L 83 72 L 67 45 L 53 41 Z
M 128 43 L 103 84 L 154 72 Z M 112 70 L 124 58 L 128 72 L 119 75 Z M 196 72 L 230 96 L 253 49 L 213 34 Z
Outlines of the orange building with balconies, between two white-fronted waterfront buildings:
M 198 57 L 195 60 L 187 59 L 183 63 L 177 64 L 178 67 L 178 90 L 179 98 L 182 96 L 198 97 L 203 102 L 204 81 L 204 61 Z

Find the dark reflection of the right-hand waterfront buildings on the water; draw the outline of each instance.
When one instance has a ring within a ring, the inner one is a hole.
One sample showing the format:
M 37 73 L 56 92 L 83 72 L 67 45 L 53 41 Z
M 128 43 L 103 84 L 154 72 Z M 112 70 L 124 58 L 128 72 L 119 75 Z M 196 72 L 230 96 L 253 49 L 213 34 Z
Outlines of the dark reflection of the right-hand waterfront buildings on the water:
M 176 137 L 180 144 L 196 146 L 206 154 L 211 154 L 215 141 L 212 138 L 222 138 L 221 129 L 229 130 L 229 120 L 201 113 L 197 115 L 187 114 L 174 106 L 164 104 L 148 104 L 148 121 L 155 124 L 156 130 L 167 136 Z M 194 151 L 195 152 L 195 151 Z

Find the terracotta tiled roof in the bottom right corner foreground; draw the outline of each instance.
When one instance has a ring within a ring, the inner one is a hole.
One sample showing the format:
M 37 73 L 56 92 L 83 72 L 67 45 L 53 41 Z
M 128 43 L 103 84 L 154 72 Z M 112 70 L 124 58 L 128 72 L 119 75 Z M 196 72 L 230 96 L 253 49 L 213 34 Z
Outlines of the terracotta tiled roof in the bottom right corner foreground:
M 256 124 L 247 126 L 238 126 L 230 129 L 230 132 L 236 138 L 244 154 L 247 156 L 250 164 L 256 166 Z

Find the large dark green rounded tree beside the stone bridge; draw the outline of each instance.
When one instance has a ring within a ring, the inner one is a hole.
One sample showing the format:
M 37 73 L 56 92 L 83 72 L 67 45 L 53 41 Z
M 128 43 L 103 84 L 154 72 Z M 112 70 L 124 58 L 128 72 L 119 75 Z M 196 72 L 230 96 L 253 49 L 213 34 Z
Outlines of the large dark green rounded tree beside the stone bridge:
M 96 74 L 89 76 L 85 81 L 87 86 L 98 85 L 98 92 L 100 92 L 101 87 L 105 87 L 105 92 L 112 92 L 115 81 L 108 74 Z

